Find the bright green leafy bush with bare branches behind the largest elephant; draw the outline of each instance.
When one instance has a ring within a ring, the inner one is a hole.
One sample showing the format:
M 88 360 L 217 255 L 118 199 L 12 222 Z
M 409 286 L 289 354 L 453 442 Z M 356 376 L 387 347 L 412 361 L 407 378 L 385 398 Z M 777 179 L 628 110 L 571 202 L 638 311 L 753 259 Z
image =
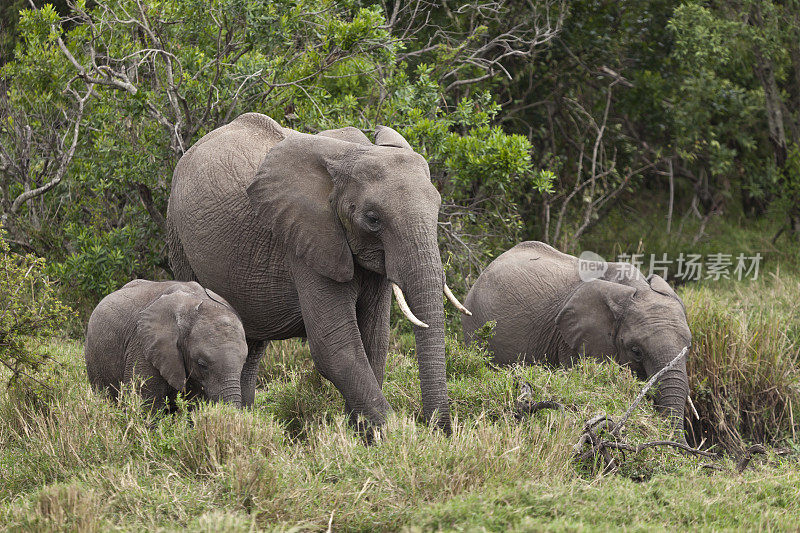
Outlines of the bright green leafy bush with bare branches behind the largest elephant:
M 69 20 L 50 7 L 23 12 L 22 42 L 2 71 L 0 171 L 14 242 L 46 255 L 84 309 L 129 277 L 170 275 L 163 213 L 172 169 L 242 112 L 308 132 L 395 126 L 428 156 L 449 199 L 443 245 L 473 271 L 479 249 L 491 253 L 497 235 L 516 231 L 515 202 L 548 176 L 534 172 L 526 138 L 492 124 L 498 107 L 488 93 L 451 101 L 440 70 L 404 61 L 411 40 L 392 35 L 378 6 L 108 0 L 76 2 Z M 26 132 L 39 149 L 21 148 Z M 478 216 L 454 227 L 465 210 Z M 487 239 L 494 244 L 481 246 Z

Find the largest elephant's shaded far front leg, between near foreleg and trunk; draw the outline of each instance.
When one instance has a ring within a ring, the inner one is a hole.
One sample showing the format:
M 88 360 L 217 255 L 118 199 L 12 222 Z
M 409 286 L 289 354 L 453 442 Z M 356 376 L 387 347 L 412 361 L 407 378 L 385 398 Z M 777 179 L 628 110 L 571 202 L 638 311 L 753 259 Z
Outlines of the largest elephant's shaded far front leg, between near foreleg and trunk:
M 383 386 L 386 354 L 389 351 L 389 314 L 392 308 L 392 289 L 384 276 L 364 272 L 361 293 L 356 302 L 361 342 L 372 367 L 372 373 Z

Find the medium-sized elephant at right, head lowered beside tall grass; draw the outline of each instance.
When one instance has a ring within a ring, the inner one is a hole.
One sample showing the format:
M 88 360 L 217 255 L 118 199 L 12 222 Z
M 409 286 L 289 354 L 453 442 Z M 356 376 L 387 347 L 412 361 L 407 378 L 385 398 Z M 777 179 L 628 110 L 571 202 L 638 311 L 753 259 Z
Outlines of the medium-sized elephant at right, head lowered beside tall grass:
M 578 258 L 536 241 L 495 259 L 465 305 L 472 311 L 462 318 L 468 341 L 487 321 L 497 321 L 489 348 L 500 364 L 523 360 L 568 367 L 585 350 L 646 379 L 692 341 L 683 303 L 660 276 L 648 280 L 629 264 L 608 263 L 598 279 L 582 281 Z M 683 427 L 688 392 L 683 358 L 660 378 L 656 396 L 676 429 Z

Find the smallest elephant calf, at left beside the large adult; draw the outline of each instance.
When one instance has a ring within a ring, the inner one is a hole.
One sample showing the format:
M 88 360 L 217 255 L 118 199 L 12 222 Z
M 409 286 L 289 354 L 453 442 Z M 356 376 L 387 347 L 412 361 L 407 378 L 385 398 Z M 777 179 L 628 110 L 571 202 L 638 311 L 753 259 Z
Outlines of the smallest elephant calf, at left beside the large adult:
M 197 283 L 137 279 L 112 292 L 89 318 L 85 357 L 89 382 L 113 398 L 137 377 L 155 408 L 178 391 L 242 403 L 244 328 L 225 300 Z

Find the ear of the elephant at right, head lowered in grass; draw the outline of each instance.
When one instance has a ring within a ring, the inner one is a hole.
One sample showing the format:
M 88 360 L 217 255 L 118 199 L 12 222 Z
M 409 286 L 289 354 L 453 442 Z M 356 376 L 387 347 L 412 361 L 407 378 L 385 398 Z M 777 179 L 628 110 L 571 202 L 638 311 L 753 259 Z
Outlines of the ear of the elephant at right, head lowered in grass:
M 578 354 L 613 356 L 617 321 L 636 289 L 601 279 L 583 282 L 556 316 L 564 341 Z

